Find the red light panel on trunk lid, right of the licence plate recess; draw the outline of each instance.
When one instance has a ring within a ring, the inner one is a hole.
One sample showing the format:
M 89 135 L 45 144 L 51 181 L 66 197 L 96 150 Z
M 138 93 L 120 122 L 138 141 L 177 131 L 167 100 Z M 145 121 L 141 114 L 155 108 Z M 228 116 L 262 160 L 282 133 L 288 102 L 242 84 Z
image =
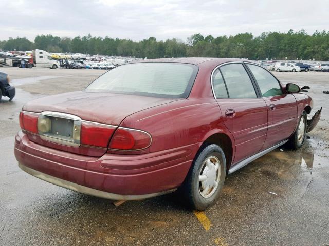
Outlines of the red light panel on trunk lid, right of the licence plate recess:
M 80 144 L 107 148 L 116 127 L 81 122 Z

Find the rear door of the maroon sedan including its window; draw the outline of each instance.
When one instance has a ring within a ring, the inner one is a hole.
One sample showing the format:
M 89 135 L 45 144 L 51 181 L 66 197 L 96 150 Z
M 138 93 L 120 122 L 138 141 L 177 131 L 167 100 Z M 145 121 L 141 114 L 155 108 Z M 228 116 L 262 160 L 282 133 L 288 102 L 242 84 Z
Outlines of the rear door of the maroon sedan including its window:
M 267 106 L 243 63 L 221 65 L 212 85 L 224 124 L 235 141 L 233 165 L 262 148 L 267 133 Z

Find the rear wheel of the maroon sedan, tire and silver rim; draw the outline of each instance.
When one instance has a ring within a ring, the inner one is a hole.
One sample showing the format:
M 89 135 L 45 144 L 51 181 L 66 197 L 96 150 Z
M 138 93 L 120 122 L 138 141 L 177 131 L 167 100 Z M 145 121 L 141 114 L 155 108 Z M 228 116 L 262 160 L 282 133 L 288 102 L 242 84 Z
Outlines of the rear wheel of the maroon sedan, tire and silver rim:
M 195 156 L 180 190 L 192 209 L 205 210 L 221 193 L 225 176 L 226 159 L 222 148 L 206 145 Z

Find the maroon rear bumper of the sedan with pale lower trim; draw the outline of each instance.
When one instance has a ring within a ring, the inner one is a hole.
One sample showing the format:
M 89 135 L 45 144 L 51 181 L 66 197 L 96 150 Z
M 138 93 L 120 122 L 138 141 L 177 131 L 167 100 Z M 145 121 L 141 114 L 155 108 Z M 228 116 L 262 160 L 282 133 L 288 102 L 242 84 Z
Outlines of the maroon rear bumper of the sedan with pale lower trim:
M 36 144 L 20 131 L 14 153 L 25 172 L 74 191 L 138 200 L 173 191 L 184 181 L 198 144 L 143 155 L 78 155 Z

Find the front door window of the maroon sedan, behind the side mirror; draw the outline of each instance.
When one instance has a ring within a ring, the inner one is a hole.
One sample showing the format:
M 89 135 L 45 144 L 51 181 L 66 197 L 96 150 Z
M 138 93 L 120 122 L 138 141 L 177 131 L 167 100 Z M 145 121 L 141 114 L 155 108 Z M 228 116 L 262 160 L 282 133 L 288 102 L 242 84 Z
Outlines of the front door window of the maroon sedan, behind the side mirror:
M 270 72 L 256 65 L 247 64 L 247 66 L 257 81 L 263 97 L 283 94 L 279 81 Z

